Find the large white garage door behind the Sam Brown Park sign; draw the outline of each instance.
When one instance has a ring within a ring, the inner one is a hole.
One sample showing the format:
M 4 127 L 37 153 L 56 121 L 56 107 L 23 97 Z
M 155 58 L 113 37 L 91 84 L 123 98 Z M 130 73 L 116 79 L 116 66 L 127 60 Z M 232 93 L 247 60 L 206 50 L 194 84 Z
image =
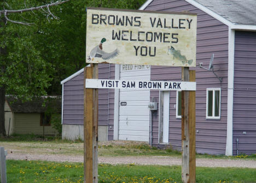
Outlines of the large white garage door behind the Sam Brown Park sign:
M 120 65 L 120 80 L 150 80 L 150 66 Z M 149 141 L 149 90 L 120 89 L 119 139 Z

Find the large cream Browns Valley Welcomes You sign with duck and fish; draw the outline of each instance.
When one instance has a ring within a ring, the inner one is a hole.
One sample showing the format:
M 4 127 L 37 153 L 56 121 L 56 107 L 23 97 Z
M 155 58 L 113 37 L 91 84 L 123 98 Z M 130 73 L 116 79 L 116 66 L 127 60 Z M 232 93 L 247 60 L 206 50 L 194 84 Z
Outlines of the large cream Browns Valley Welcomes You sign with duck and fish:
M 196 14 L 87 10 L 86 62 L 196 66 Z

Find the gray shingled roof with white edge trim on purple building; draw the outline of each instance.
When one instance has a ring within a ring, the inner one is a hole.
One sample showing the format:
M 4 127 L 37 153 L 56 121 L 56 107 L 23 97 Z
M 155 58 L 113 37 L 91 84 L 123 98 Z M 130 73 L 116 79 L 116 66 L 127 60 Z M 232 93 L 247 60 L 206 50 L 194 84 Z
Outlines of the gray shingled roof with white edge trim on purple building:
M 140 10 L 146 9 L 150 3 L 156 0 L 148 0 Z M 211 15 L 215 19 L 229 26 L 230 29 L 244 29 L 256 31 L 255 0 L 184 0 L 196 8 Z M 168 1 L 167 1 L 168 2 Z

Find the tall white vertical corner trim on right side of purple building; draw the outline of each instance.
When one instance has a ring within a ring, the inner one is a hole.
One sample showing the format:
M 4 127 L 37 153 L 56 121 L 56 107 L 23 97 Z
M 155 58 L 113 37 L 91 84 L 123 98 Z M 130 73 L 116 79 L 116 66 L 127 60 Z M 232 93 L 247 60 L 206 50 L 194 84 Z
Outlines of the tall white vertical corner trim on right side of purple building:
M 229 27 L 229 60 L 228 60 L 228 117 L 226 124 L 226 156 L 233 151 L 233 93 L 234 93 L 234 61 L 235 61 L 235 30 Z

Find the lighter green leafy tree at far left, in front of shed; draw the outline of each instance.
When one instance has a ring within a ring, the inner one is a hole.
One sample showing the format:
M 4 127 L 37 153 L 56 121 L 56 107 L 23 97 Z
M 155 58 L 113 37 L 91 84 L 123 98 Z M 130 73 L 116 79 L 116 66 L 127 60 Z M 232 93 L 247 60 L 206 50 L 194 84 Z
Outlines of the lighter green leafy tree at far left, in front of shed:
M 40 8 L 43 13 L 28 10 L 27 6 L 41 5 L 36 1 L 3 1 L 0 3 L 0 136 L 5 136 L 4 101 L 5 94 L 30 100 L 33 96 L 46 95 L 53 78 L 52 65 L 42 57 L 34 40 L 38 35 L 40 17 L 55 18 L 51 14 L 52 4 Z M 61 4 L 59 1 L 54 5 Z M 24 9 L 23 13 L 19 10 Z M 34 8 L 35 10 L 37 8 Z M 8 11 L 11 10 L 11 11 Z M 25 12 L 25 13 L 24 13 Z M 24 22 L 27 21 L 27 22 Z M 30 26 L 30 25 L 34 26 Z M 22 25 L 21 25 L 22 24 Z

